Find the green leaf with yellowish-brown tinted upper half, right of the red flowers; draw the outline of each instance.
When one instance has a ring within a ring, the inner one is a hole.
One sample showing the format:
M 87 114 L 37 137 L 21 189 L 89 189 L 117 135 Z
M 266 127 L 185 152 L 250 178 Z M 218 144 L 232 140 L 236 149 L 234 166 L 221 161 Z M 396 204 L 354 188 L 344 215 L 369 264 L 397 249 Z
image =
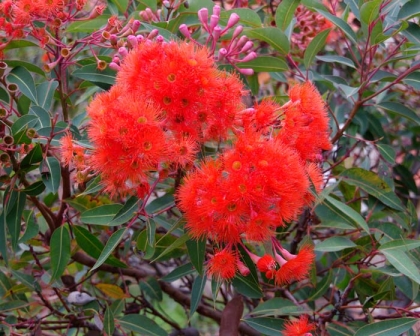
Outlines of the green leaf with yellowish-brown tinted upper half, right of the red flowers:
M 375 173 L 362 168 L 351 168 L 342 172 L 340 177 L 344 178 L 348 184 L 360 187 L 385 205 L 396 210 L 404 211 L 404 207 L 401 205 L 399 198 Z

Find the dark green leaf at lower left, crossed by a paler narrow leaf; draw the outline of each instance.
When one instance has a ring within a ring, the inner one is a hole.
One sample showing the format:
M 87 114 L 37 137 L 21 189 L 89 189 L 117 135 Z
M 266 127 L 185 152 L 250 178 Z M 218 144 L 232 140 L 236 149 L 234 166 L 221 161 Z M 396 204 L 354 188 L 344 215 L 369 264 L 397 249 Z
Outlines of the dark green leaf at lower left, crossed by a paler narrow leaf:
M 72 229 L 76 237 L 77 245 L 85 251 L 87 255 L 98 259 L 104 249 L 104 245 L 98 237 L 94 236 L 89 230 L 80 225 L 73 225 Z M 115 267 L 127 268 L 126 264 L 112 255 L 109 256 L 104 263 Z

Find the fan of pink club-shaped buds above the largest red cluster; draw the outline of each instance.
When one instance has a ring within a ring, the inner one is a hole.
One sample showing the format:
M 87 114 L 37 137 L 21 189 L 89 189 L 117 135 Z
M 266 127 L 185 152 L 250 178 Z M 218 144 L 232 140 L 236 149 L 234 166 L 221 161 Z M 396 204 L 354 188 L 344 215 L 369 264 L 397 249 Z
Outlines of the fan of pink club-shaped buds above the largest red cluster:
M 220 37 L 224 36 L 229 32 L 240 20 L 240 17 L 236 13 L 232 13 L 229 17 L 227 25 L 225 28 L 219 26 L 220 21 L 220 6 L 216 5 L 213 7 L 213 14 L 209 18 L 209 13 L 207 8 L 202 8 L 198 11 L 198 19 L 201 22 L 203 29 L 207 32 L 206 45 L 208 45 L 211 54 L 215 53 L 217 41 Z M 186 38 L 191 41 L 199 44 L 192 35 L 186 24 L 179 26 L 179 31 Z M 241 25 L 237 26 L 233 31 L 232 38 L 229 45 L 226 48 L 221 48 L 218 52 L 218 57 L 216 58 L 218 62 L 225 61 L 231 64 L 238 72 L 243 75 L 252 75 L 254 71 L 252 69 L 241 69 L 236 64 L 249 62 L 257 57 L 257 54 L 252 51 L 253 43 L 246 36 L 241 36 L 243 32 L 243 27 Z M 245 55 L 242 59 L 240 55 Z

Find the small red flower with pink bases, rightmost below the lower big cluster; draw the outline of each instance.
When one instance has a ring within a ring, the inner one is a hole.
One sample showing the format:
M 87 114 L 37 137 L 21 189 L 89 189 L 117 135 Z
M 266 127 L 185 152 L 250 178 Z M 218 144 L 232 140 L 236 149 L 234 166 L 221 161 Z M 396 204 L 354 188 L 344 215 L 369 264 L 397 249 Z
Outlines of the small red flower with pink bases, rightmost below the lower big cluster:
M 275 276 L 276 285 L 281 286 L 293 281 L 306 279 L 315 260 L 313 247 L 305 245 L 297 255 L 290 254 L 284 249 L 280 251 L 286 260 L 276 255 L 276 259 L 280 264 L 280 268 L 277 270 Z

